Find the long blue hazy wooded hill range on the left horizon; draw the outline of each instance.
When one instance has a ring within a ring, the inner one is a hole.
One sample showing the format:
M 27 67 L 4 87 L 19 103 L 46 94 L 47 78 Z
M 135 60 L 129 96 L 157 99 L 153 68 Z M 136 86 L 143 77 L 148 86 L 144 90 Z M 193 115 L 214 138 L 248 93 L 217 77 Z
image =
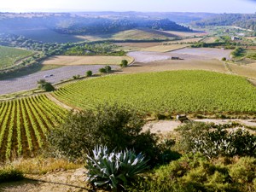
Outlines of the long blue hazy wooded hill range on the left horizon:
M 0 31 L 11 33 L 21 30 L 47 28 L 61 34 L 95 35 L 122 32 L 135 28 L 147 28 L 160 31 L 191 31 L 164 17 L 147 15 L 113 15 L 105 13 L 0 13 Z

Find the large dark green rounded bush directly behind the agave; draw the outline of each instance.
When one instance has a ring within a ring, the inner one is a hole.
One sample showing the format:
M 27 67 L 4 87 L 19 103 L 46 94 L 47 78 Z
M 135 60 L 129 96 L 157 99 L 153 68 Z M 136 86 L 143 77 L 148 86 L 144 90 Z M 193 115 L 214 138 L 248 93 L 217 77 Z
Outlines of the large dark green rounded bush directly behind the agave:
M 143 124 L 137 111 L 118 105 L 70 113 L 62 125 L 49 132 L 49 148 L 55 156 L 71 160 L 91 154 L 96 145 L 106 145 L 109 150 L 132 148 L 154 162 L 159 154 L 157 137 L 142 132 Z

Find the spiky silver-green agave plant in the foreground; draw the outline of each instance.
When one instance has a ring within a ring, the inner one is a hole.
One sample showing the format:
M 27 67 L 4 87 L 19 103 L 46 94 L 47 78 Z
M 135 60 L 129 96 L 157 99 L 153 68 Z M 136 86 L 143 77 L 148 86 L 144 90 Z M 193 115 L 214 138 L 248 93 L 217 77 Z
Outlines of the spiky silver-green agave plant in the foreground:
M 136 155 L 133 150 L 109 152 L 106 146 L 96 146 L 93 157 L 87 155 L 87 180 L 96 186 L 108 185 L 116 191 L 148 168 L 148 160 L 144 159 L 143 154 Z

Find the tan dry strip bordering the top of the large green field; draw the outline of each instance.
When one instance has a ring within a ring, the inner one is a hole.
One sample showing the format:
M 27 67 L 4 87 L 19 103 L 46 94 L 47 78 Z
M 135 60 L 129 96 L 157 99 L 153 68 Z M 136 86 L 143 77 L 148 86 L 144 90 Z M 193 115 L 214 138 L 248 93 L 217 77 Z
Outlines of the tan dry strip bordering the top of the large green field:
M 228 73 L 223 63 L 218 60 L 166 60 L 148 63 L 135 63 L 132 67 L 123 68 L 121 73 L 148 73 L 172 70 L 207 70 Z

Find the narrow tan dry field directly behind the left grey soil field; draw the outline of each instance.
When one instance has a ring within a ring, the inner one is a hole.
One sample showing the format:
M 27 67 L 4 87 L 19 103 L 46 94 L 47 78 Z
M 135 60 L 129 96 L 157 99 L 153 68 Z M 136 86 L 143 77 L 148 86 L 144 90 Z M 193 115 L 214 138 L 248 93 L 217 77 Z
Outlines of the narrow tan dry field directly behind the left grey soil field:
M 43 65 L 61 65 L 61 66 L 78 66 L 78 65 L 119 65 L 122 60 L 129 63 L 133 61 L 128 56 L 52 56 L 43 62 Z

